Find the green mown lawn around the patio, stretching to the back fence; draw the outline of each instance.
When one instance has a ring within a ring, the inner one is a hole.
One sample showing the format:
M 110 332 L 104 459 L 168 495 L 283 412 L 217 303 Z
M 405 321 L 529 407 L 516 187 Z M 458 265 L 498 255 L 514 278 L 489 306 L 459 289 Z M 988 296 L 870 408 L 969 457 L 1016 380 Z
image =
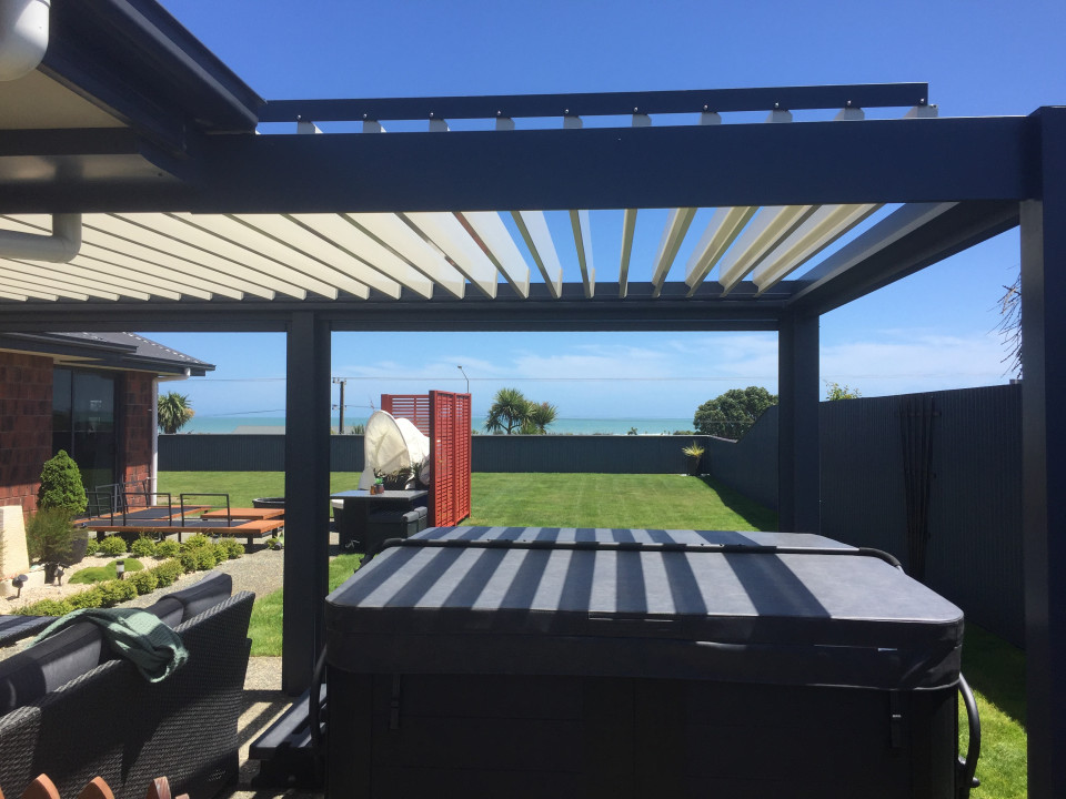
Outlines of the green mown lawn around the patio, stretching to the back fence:
M 359 473 L 333 473 L 331 490 L 354 488 Z M 281 496 L 279 472 L 164 472 L 160 490 L 228 492 L 234 507 L 261 496 Z M 653 529 L 774 529 L 776 515 L 710 478 L 680 475 L 475 473 L 467 524 L 545 527 L 646 527 Z M 351 576 L 359 555 L 330 563 L 330 589 Z M 255 600 L 250 635 L 253 655 L 281 654 L 282 591 Z M 1024 799 L 1025 655 L 968 625 L 963 672 L 977 697 L 982 756 L 974 799 Z M 961 715 L 964 719 L 964 716 Z M 965 721 L 962 722 L 965 729 Z M 966 749 L 964 732 L 961 751 Z

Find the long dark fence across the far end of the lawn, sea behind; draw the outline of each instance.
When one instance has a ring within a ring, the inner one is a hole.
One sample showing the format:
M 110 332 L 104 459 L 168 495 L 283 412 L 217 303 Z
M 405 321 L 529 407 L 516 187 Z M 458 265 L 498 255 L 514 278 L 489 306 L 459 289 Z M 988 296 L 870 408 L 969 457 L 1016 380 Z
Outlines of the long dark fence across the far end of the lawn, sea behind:
M 607 474 L 681 474 L 682 447 L 710 436 L 494 436 L 475 435 L 474 472 L 591 472 Z M 706 455 L 704 456 L 706 458 Z M 250 435 L 161 435 L 159 468 L 163 472 L 282 472 L 285 437 Z M 331 436 L 330 471 L 363 468 L 361 435 Z

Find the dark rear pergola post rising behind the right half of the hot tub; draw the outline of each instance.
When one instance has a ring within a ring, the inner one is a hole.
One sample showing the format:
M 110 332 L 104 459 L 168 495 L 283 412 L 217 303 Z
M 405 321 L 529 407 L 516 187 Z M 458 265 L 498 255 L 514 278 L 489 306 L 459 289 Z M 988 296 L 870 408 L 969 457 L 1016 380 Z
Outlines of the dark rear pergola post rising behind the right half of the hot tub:
M 777 332 L 777 528 L 822 528 L 818 315 L 786 314 Z

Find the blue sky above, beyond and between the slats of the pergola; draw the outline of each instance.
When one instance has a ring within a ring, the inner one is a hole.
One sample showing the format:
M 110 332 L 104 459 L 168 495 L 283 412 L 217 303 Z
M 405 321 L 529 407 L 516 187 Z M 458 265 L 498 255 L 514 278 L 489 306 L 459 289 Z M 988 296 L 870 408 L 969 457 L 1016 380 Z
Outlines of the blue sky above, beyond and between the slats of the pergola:
M 163 0 L 163 6 L 268 100 L 927 81 L 942 117 L 1028 114 L 1066 102 L 1060 0 Z M 631 279 L 647 280 L 664 219 L 665 212 L 638 218 Z M 671 280 L 684 269 L 700 221 Z M 592 226 L 597 276 L 617 280 L 621 215 L 593 214 Z M 1017 269 L 1018 237 L 1012 231 L 826 314 L 823 378 L 866 396 L 1004 382 L 997 307 Z M 567 280 L 577 275 L 576 263 L 564 260 L 564 270 Z M 250 421 L 281 415 L 282 335 L 149 335 L 217 364 L 209 377 L 175 386 L 200 415 L 240 413 Z M 727 388 L 757 384 L 776 391 L 776 336 L 333 338 L 333 374 L 349 378 L 352 415 L 386 392 L 464 390 L 459 364 L 471 378 L 475 412 L 487 407 L 499 387 L 514 385 L 556 404 L 564 417 L 686 418 Z

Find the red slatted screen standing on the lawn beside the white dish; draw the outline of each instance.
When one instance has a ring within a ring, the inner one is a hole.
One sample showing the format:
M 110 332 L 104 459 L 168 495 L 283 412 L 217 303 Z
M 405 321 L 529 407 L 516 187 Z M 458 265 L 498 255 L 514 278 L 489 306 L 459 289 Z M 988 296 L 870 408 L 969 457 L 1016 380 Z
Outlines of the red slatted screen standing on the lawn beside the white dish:
M 381 409 L 410 419 L 430 438 L 429 524 L 447 527 L 470 516 L 470 394 L 383 394 Z

